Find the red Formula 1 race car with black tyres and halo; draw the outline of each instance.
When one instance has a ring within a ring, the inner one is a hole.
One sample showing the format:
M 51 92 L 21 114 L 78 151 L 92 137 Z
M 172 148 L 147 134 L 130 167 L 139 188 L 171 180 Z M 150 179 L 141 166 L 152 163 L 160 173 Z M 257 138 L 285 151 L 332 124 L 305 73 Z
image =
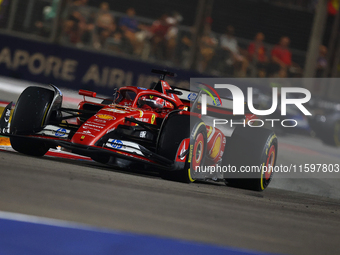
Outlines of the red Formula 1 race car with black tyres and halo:
M 78 109 L 63 108 L 62 93 L 53 85 L 28 87 L 18 99 L 10 125 L 12 104 L 6 107 L 0 133 L 10 137 L 16 151 L 31 156 L 61 146 L 100 163 L 157 169 L 164 179 L 225 181 L 264 190 L 272 171 L 264 171 L 263 166 L 274 166 L 277 158 L 275 134 L 241 126 L 226 135 L 202 120 L 199 95 L 193 99 L 190 91 L 171 88 L 164 79 L 173 73 L 153 72 L 161 79 L 152 89 L 122 87 L 113 99 L 101 103 L 85 99 L 96 97 L 95 92 L 80 90 L 84 101 Z M 231 109 L 208 105 L 208 111 L 235 117 Z M 243 119 L 254 117 L 246 114 Z M 72 118 L 76 122 L 71 124 Z M 249 171 L 251 167 L 260 170 Z

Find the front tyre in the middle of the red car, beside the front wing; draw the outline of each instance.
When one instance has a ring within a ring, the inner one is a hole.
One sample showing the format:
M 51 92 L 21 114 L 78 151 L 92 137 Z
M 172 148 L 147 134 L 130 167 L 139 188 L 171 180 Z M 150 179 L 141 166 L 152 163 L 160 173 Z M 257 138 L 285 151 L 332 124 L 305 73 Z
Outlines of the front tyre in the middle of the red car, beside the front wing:
M 180 114 L 170 116 L 160 134 L 158 153 L 170 160 L 176 160 L 179 147 L 186 138 L 190 138 L 190 145 L 184 167 L 176 171 L 161 171 L 163 179 L 194 182 L 191 172 L 196 165 L 204 164 L 207 150 L 207 130 L 201 119 Z

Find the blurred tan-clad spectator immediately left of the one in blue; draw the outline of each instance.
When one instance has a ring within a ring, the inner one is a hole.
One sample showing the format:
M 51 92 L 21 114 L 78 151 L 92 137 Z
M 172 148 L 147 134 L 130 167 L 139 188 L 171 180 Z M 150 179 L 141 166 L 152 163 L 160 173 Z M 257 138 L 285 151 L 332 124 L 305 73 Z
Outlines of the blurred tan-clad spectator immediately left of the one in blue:
M 110 37 L 116 38 L 114 42 L 121 43 L 121 33 L 117 31 L 117 26 L 113 15 L 110 13 L 110 6 L 107 2 L 102 2 L 97 13 L 94 28 L 94 43 L 96 49 L 106 46 L 106 40 Z

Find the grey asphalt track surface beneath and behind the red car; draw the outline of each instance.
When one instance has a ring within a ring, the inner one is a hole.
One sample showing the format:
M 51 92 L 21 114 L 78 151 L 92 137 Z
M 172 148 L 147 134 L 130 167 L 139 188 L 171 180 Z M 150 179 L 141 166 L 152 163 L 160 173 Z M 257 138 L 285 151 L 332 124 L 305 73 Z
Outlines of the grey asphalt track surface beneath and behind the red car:
M 340 150 L 317 139 L 279 144 L 278 164 L 340 163 Z M 253 251 L 339 254 L 339 180 L 275 178 L 258 193 L 0 151 L 0 210 Z

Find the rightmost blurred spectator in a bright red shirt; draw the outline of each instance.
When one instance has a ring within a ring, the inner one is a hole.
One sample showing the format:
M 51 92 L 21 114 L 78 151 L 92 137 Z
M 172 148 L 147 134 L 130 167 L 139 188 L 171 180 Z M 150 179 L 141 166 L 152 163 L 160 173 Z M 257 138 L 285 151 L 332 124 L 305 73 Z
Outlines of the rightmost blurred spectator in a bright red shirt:
M 290 39 L 283 36 L 278 45 L 271 52 L 271 74 L 279 77 L 287 77 L 288 70 L 292 66 L 292 52 L 289 49 Z

